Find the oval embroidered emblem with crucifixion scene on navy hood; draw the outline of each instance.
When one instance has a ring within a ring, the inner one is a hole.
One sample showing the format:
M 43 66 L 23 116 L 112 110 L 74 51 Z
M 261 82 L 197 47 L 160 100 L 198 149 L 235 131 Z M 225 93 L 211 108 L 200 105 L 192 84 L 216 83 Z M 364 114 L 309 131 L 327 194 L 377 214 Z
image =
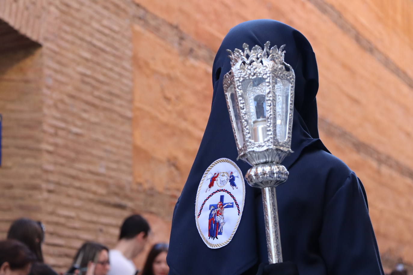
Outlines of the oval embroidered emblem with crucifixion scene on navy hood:
M 240 167 L 228 158 L 209 165 L 199 182 L 195 221 L 199 235 L 210 248 L 227 245 L 240 224 L 245 183 Z

